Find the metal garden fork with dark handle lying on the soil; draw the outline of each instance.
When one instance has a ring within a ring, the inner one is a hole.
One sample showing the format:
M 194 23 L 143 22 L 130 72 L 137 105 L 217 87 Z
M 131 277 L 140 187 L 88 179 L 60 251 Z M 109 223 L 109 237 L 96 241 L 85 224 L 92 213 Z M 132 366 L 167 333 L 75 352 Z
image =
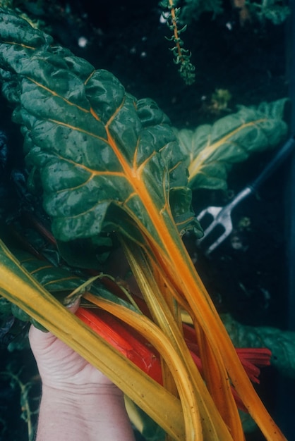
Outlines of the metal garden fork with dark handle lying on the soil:
M 203 242 L 203 245 L 205 244 L 205 255 L 208 256 L 212 253 L 217 247 L 219 247 L 219 244 L 221 244 L 232 232 L 233 225 L 231 222 L 231 211 L 241 202 L 243 199 L 248 197 L 250 194 L 253 194 L 258 190 L 258 187 L 265 181 L 269 176 L 283 163 L 283 161 L 289 156 L 291 151 L 294 149 L 295 144 L 295 136 L 292 136 L 288 139 L 288 141 L 283 145 L 281 149 L 275 154 L 273 159 L 270 161 L 270 163 L 267 164 L 267 166 L 263 169 L 263 171 L 258 175 L 258 177 L 253 180 L 250 184 L 248 184 L 241 192 L 236 194 L 234 199 L 227 204 L 226 206 L 209 206 L 207 209 L 204 209 L 201 211 L 197 219 L 198 221 L 203 220 L 205 216 L 210 215 L 212 217 L 212 221 L 210 225 L 207 226 L 204 230 L 204 235 L 199 240 L 197 240 L 197 246 L 199 247 L 200 244 Z M 208 245 L 209 242 L 209 236 L 212 235 L 212 232 L 217 227 L 222 227 L 223 231 L 222 233 L 214 237 L 214 242 Z

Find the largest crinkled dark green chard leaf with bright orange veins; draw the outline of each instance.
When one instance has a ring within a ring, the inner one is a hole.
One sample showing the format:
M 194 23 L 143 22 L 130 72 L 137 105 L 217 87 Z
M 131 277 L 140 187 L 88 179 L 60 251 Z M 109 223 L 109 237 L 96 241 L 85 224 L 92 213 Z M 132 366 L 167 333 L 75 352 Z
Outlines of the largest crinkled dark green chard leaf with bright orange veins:
M 114 75 L 52 46 L 23 20 L 5 13 L 1 20 L 0 66 L 12 72 L 4 94 L 12 101 L 18 94 L 14 119 L 24 126 L 27 164 L 37 169 L 56 238 L 119 229 L 134 239 L 132 218 L 157 235 L 143 186 L 159 211 L 167 211 L 174 189 L 171 210 L 184 230 L 193 220 L 190 190 L 176 137 L 155 102 L 135 99 Z M 178 192 L 186 192 L 181 204 Z

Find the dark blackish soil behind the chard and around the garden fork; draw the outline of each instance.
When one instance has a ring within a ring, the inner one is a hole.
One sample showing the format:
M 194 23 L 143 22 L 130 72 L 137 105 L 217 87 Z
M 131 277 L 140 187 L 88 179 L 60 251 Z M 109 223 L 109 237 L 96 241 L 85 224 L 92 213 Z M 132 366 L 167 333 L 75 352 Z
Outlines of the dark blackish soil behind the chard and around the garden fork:
M 227 111 L 235 111 L 237 104 L 258 105 L 289 96 L 288 23 L 273 25 L 253 18 L 241 26 L 239 11 L 231 7 L 230 1 L 224 2 L 224 13 L 215 18 L 204 13 L 181 35 L 196 69 L 191 86 L 185 85 L 177 72 L 169 51 L 171 42 L 165 39 L 170 31 L 160 23 L 157 0 L 32 1 L 20 2 L 20 8 L 41 20 L 44 29 L 74 54 L 88 59 L 95 68 L 111 71 L 128 92 L 137 98 L 154 99 L 177 128 L 213 123 Z M 81 41 L 85 46 L 81 46 Z M 227 111 L 214 113 L 207 105 L 215 89 L 228 89 L 231 93 Z M 8 120 L 4 120 L 4 114 L 9 119 L 6 104 L 1 106 L 0 128 L 17 139 Z M 290 116 L 286 118 L 289 120 Z M 195 211 L 205 205 L 224 204 L 230 194 L 239 192 L 255 178 L 271 156 L 270 152 L 259 154 L 236 166 L 229 175 L 227 194 L 194 194 Z M 229 311 L 241 323 L 287 328 L 284 225 L 288 173 L 286 163 L 261 187 L 259 194 L 234 211 L 234 235 L 241 243 L 240 249 L 233 247 L 231 237 L 209 259 L 196 249 L 195 242 L 187 239 L 188 249 L 194 256 L 197 254 L 196 266 L 217 307 Z M 239 228 L 245 218 L 248 227 Z M 30 353 L 25 352 L 25 356 L 30 358 Z M 1 371 L 9 357 L 11 354 L 3 349 Z M 280 418 L 278 375 L 267 368 L 261 378 L 260 390 L 267 407 Z M 7 419 L 8 414 L 18 416 L 17 392 L 11 392 L 7 382 L 1 387 L 0 428 L 1 418 Z M 4 430 L 0 440 L 27 440 L 25 423 L 18 419 L 12 424 L 13 430 Z M 290 441 L 292 436 L 289 435 Z M 247 437 L 249 441 L 262 439 L 258 433 Z

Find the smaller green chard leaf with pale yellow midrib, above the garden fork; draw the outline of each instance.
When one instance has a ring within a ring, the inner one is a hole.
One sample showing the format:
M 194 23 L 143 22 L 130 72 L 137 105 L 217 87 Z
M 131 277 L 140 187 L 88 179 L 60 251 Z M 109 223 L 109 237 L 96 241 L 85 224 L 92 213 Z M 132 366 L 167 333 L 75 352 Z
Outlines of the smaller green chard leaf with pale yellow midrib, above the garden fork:
M 213 125 L 175 129 L 186 158 L 190 187 L 225 190 L 227 173 L 234 163 L 277 147 L 287 133 L 287 124 L 282 120 L 286 101 L 262 103 L 257 108 L 240 106 L 237 113 Z

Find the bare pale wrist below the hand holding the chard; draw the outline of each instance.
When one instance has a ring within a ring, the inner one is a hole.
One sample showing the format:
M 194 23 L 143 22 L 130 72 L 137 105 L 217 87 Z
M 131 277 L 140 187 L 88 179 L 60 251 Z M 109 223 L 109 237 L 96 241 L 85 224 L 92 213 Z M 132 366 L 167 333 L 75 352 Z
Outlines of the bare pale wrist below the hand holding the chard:
M 134 440 L 124 395 L 114 385 L 71 390 L 42 385 L 37 440 Z

